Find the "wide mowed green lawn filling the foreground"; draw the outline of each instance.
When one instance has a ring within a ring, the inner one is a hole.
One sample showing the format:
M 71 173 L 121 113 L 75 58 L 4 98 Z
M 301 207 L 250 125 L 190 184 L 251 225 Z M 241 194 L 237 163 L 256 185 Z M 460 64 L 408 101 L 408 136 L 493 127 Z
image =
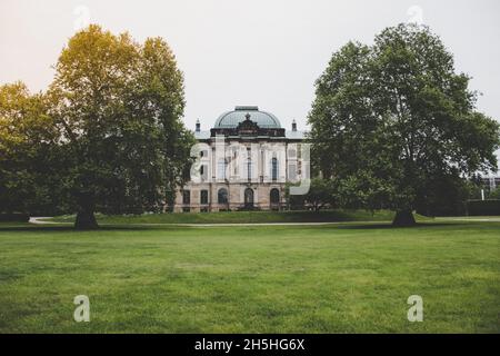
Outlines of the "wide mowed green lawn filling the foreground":
M 500 222 L 0 225 L 0 333 L 499 333 L 499 313 Z

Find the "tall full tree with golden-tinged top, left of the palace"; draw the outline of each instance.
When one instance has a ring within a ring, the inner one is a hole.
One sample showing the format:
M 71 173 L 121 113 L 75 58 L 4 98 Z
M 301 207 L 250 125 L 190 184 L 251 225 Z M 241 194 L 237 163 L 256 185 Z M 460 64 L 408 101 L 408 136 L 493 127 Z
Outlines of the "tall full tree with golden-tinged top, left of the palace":
M 182 73 L 164 41 L 140 44 L 92 24 L 62 50 L 48 97 L 77 228 L 96 228 L 96 210 L 162 209 L 193 142 L 180 119 Z

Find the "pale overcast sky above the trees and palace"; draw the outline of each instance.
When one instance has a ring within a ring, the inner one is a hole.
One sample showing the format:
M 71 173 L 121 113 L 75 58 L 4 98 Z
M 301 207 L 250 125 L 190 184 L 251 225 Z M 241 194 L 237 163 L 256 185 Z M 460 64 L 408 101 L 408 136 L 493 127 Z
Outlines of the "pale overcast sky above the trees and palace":
M 481 91 L 479 109 L 500 119 L 500 1 L 0 0 L 0 83 L 43 90 L 68 38 L 89 22 L 137 40 L 160 36 L 184 72 L 184 120 L 209 129 L 236 105 L 258 105 L 303 128 L 314 80 L 349 40 L 423 22 Z

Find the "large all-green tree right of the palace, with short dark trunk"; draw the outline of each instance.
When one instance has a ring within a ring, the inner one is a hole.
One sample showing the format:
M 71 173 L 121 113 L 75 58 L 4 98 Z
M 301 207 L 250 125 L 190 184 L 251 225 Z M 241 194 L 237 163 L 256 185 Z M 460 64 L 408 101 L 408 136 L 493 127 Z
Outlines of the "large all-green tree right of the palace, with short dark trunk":
M 427 27 L 399 24 L 373 46 L 349 42 L 316 83 L 312 159 L 346 206 L 412 210 L 440 182 L 496 169 L 500 128 L 476 111 L 469 77 Z

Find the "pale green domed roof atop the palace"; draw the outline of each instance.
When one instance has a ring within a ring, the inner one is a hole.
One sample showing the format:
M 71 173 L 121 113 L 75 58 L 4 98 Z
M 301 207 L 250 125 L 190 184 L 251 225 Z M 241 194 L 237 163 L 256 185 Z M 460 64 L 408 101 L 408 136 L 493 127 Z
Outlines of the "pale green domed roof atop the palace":
M 236 107 L 234 110 L 222 113 L 217 119 L 214 128 L 236 128 L 240 122 L 247 119 L 247 113 L 250 115 L 250 120 L 257 122 L 260 128 L 281 128 L 281 123 L 276 116 L 267 111 L 260 111 L 258 107 Z

